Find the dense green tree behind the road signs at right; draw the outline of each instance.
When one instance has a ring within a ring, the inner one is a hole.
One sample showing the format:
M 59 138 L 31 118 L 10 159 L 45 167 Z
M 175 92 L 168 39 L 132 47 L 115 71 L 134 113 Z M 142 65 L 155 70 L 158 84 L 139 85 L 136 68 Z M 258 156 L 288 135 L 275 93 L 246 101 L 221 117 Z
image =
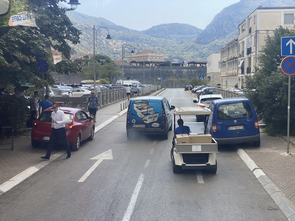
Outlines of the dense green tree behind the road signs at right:
M 266 123 L 269 135 L 287 133 L 288 76 L 280 68 L 281 37 L 295 36 L 295 27 L 278 27 L 273 35 L 268 35 L 260 54 L 258 67 L 253 76 L 245 78 L 246 97 L 255 108 L 256 114 Z M 290 133 L 295 134 L 295 86 L 291 76 Z

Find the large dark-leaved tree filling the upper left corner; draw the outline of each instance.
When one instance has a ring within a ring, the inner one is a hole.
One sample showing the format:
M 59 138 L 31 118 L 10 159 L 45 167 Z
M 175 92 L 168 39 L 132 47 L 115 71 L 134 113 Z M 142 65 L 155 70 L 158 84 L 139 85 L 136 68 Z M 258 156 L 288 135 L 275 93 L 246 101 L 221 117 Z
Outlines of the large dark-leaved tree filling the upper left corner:
M 60 1 L 63 0 L 30 0 L 30 4 L 25 6 L 25 11 L 33 12 L 37 27 L 0 28 L 0 86 L 5 87 L 9 83 L 19 86 L 17 82 L 25 81 L 41 87 L 44 81 L 42 74 L 35 70 L 36 54 L 42 55 L 50 70 L 57 73 L 68 74 L 81 70 L 76 61 L 70 60 L 71 47 L 68 45 L 78 44 L 81 32 L 73 26 L 66 15 L 66 11 L 71 9 L 60 8 L 57 5 Z M 11 4 L 18 3 L 19 1 L 11 1 Z M 15 12 L 11 11 L 7 17 Z M 3 19 L 5 18 L 1 17 L 0 23 L 3 23 Z M 53 64 L 50 46 L 58 50 L 63 57 L 56 65 Z M 44 79 L 47 84 L 53 82 L 50 74 L 44 75 Z

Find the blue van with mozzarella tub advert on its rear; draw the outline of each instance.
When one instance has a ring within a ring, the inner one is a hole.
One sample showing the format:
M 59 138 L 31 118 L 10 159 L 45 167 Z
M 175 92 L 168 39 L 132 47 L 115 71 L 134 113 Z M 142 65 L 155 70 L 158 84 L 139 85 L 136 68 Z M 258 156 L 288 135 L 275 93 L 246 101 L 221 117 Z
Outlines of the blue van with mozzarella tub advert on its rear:
M 145 96 L 132 98 L 127 110 L 127 138 L 136 133 L 163 134 L 168 139 L 168 130 L 172 130 L 172 113 L 167 98 Z

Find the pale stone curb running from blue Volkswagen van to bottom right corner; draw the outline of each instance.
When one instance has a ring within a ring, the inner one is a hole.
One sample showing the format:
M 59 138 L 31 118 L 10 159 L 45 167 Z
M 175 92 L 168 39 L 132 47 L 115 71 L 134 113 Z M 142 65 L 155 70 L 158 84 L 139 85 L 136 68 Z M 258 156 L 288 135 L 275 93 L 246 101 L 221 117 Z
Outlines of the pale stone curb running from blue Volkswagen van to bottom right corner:
M 274 184 L 271 179 L 266 176 L 266 174 L 259 169 L 255 162 L 246 154 L 246 152 L 239 148 L 237 149 L 237 154 L 245 162 L 248 168 L 253 172 L 254 176 L 258 179 L 263 188 L 268 192 L 273 201 L 278 205 L 281 211 L 290 221 L 295 221 L 295 207 L 290 202 L 290 200 L 285 197 L 281 190 Z

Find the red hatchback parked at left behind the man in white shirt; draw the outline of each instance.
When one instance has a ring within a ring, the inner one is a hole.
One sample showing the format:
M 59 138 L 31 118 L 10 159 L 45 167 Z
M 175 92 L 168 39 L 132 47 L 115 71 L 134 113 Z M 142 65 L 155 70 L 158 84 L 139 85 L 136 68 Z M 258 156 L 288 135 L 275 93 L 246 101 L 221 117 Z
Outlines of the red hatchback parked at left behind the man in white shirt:
M 60 110 L 65 113 L 65 130 L 72 150 L 77 151 L 80 142 L 85 139 L 93 140 L 95 127 L 92 117 L 81 109 L 60 107 Z M 38 147 L 42 142 L 49 143 L 52 112 L 52 108 L 47 108 L 34 123 L 31 133 L 32 147 Z

